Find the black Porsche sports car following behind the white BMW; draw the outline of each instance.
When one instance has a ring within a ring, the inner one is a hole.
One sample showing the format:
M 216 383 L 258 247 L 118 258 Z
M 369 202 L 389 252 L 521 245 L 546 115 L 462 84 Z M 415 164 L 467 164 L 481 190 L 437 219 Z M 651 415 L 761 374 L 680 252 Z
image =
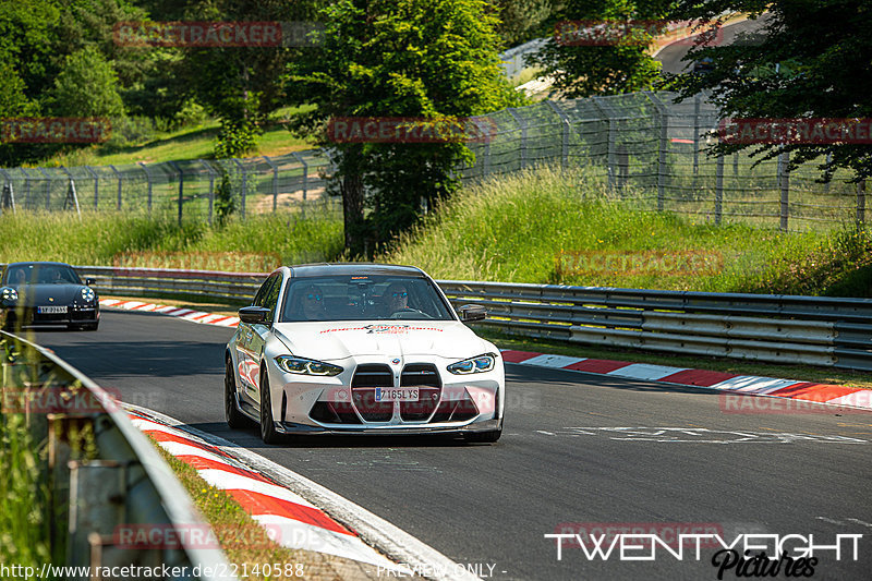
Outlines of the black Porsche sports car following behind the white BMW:
M 11 263 L 0 278 L 0 325 L 32 325 L 97 330 L 100 302 L 90 286 L 64 263 Z

